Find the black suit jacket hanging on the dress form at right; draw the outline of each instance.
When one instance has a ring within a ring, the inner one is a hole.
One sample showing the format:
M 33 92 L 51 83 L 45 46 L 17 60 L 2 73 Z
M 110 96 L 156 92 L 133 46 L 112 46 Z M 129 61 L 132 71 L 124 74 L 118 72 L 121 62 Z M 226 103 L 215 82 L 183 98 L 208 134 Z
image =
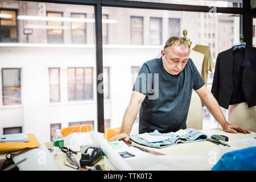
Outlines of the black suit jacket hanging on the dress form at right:
M 247 64 L 247 67 L 243 68 L 242 88 L 248 106 L 252 107 L 256 105 L 256 48 L 246 45 L 245 61 L 249 61 L 250 65 Z M 218 104 L 228 109 L 233 89 L 232 47 L 218 53 L 211 92 Z

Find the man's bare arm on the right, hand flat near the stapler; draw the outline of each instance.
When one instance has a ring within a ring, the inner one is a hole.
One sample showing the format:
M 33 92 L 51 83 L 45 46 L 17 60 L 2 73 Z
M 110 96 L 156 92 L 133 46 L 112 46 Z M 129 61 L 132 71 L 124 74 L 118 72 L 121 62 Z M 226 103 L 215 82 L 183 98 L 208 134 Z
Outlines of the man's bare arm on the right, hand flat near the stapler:
M 220 123 L 222 129 L 226 132 L 237 133 L 237 131 L 242 131 L 243 133 L 250 133 L 250 131 L 246 130 L 243 127 L 230 125 L 222 113 L 220 105 L 218 105 L 217 100 L 214 98 L 213 94 L 206 88 L 206 86 L 202 86 L 200 89 L 196 90 L 196 93 L 199 94 L 201 100 L 203 100 L 205 106 L 210 111 L 210 114 Z

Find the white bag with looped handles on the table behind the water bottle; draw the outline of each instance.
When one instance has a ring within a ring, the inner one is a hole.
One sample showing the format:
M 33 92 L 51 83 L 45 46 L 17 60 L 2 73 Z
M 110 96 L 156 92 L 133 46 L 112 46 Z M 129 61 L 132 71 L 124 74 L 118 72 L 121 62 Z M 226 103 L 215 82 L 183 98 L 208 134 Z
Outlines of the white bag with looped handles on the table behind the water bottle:
M 81 144 L 92 144 L 94 140 L 92 138 L 91 131 L 88 130 L 87 132 L 81 133 L 81 127 L 86 125 L 80 126 L 80 131 L 77 129 L 72 130 L 72 133 L 69 134 L 67 137 L 64 137 L 64 146 L 76 146 Z M 87 126 L 86 126 L 87 127 Z M 73 131 L 78 131 L 79 133 L 73 133 Z

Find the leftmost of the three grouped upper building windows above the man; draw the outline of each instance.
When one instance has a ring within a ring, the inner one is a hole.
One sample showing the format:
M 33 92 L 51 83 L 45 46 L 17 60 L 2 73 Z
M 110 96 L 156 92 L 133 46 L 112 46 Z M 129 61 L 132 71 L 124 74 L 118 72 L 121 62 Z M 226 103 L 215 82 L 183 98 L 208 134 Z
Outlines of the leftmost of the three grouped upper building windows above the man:
M 143 44 L 143 17 L 131 16 L 131 44 Z

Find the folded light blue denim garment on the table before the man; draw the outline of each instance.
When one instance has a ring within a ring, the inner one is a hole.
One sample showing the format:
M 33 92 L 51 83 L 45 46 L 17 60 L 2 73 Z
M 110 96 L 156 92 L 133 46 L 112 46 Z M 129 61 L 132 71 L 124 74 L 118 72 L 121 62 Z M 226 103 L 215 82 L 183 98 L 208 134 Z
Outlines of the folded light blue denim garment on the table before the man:
M 188 131 L 188 133 L 184 135 L 176 135 L 174 132 L 159 133 L 158 130 L 155 130 L 152 133 L 148 133 L 151 136 L 170 137 L 169 139 L 162 140 L 160 142 L 148 142 L 147 140 L 139 137 L 139 134 L 130 135 L 130 139 L 139 144 L 143 144 L 144 146 L 155 147 L 155 148 L 169 147 L 179 142 L 190 143 L 190 142 L 199 142 L 199 141 L 207 140 L 207 135 L 204 133 L 201 133 L 196 129 L 185 129 L 185 131 Z

